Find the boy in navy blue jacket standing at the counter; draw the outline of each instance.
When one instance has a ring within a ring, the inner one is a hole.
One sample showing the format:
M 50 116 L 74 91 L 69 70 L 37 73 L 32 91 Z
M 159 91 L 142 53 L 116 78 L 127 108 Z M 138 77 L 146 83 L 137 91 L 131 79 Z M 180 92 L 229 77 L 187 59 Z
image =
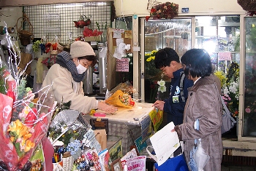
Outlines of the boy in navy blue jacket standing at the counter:
M 178 54 L 170 47 L 159 49 L 155 55 L 154 64 L 171 79 L 171 82 L 169 98 L 163 101 L 157 100 L 153 106 L 167 114 L 167 123 L 182 124 L 187 88 L 192 87 L 193 81 L 185 77 Z

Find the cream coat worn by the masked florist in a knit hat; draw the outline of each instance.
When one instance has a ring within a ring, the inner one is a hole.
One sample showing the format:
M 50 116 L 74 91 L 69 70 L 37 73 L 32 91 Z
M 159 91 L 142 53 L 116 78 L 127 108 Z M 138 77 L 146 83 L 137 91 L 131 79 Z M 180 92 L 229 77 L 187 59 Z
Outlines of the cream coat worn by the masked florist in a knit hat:
M 54 64 L 50 67 L 42 87 L 51 84 L 52 87 L 48 92 L 48 98 L 52 96 L 53 100 L 58 103 L 61 103 L 62 98 L 64 103 L 71 100 L 70 109 L 80 111 L 83 114 L 88 113 L 93 108 L 97 108 L 97 100 L 84 95 L 83 82 L 75 82 L 71 73 L 59 64 Z

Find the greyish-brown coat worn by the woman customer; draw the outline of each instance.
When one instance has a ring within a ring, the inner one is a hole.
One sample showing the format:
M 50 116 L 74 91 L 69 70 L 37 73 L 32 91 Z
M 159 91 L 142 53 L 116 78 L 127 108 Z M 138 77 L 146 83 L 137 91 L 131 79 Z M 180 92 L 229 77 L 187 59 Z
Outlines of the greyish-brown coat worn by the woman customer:
M 220 171 L 222 162 L 222 102 L 220 100 L 219 83 L 214 84 L 215 76 L 199 79 L 189 88 L 189 96 L 184 110 L 184 124 L 176 131 L 184 140 L 184 155 L 189 162 L 195 138 L 201 138 L 206 154 L 210 156 L 206 171 Z M 194 128 L 195 119 L 199 119 L 200 130 Z

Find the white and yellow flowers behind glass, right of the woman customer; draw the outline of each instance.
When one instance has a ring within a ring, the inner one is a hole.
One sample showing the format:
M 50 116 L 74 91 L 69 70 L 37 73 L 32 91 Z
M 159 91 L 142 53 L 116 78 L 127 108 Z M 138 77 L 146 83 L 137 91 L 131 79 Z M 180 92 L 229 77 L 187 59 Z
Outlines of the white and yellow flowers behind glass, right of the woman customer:
M 233 114 L 238 116 L 239 104 L 239 65 L 238 63 L 230 63 L 227 68 L 227 74 L 223 71 L 214 73 L 222 84 L 222 98 L 227 108 Z

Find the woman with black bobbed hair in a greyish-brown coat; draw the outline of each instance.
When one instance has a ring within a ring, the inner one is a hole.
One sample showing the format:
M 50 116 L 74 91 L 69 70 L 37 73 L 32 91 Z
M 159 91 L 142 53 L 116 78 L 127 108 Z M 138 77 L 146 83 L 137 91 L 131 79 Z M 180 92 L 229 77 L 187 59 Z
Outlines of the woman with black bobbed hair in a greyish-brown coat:
M 189 165 L 195 139 L 201 139 L 203 151 L 209 156 L 203 170 L 220 171 L 222 162 L 222 102 L 219 82 L 211 73 L 211 60 L 203 49 L 190 49 L 181 57 L 184 73 L 194 81 L 184 110 L 184 123 L 176 125 L 178 138 L 184 141 L 184 156 Z M 199 130 L 195 130 L 195 120 Z

